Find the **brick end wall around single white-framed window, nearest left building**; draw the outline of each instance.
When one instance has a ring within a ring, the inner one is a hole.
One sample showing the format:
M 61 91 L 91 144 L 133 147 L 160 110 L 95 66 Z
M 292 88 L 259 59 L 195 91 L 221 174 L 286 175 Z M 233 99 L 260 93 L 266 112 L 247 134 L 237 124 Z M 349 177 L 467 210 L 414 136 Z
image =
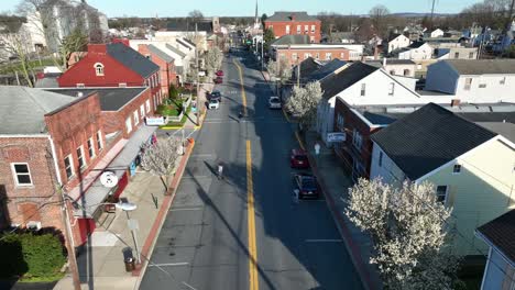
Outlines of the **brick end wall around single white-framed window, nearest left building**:
M 32 186 L 17 186 L 12 163 L 29 165 Z M 0 194 L 2 226 L 40 221 L 43 227 L 62 228 L 59 192 L 47 136 L 0 138 Z

